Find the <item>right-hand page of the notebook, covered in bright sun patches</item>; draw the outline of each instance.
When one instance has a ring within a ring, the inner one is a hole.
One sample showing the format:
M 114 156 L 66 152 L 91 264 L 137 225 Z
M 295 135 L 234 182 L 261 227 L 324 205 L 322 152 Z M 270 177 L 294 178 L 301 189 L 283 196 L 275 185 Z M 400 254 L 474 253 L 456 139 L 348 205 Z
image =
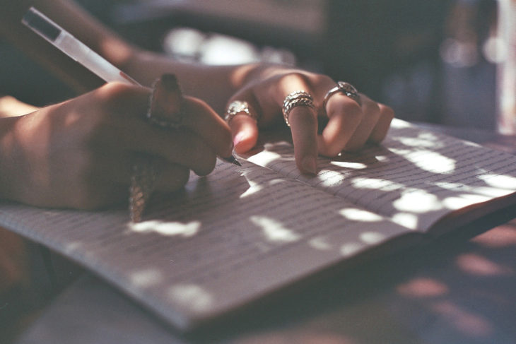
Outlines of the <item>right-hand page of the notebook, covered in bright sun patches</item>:
M 267 144 L 248 159 L 421 231 L 452 210 L 516 191 L 514 155 L 399 119 L 382 146 L 319 158 L 315 177 L 300 174 L 289 143 Z

